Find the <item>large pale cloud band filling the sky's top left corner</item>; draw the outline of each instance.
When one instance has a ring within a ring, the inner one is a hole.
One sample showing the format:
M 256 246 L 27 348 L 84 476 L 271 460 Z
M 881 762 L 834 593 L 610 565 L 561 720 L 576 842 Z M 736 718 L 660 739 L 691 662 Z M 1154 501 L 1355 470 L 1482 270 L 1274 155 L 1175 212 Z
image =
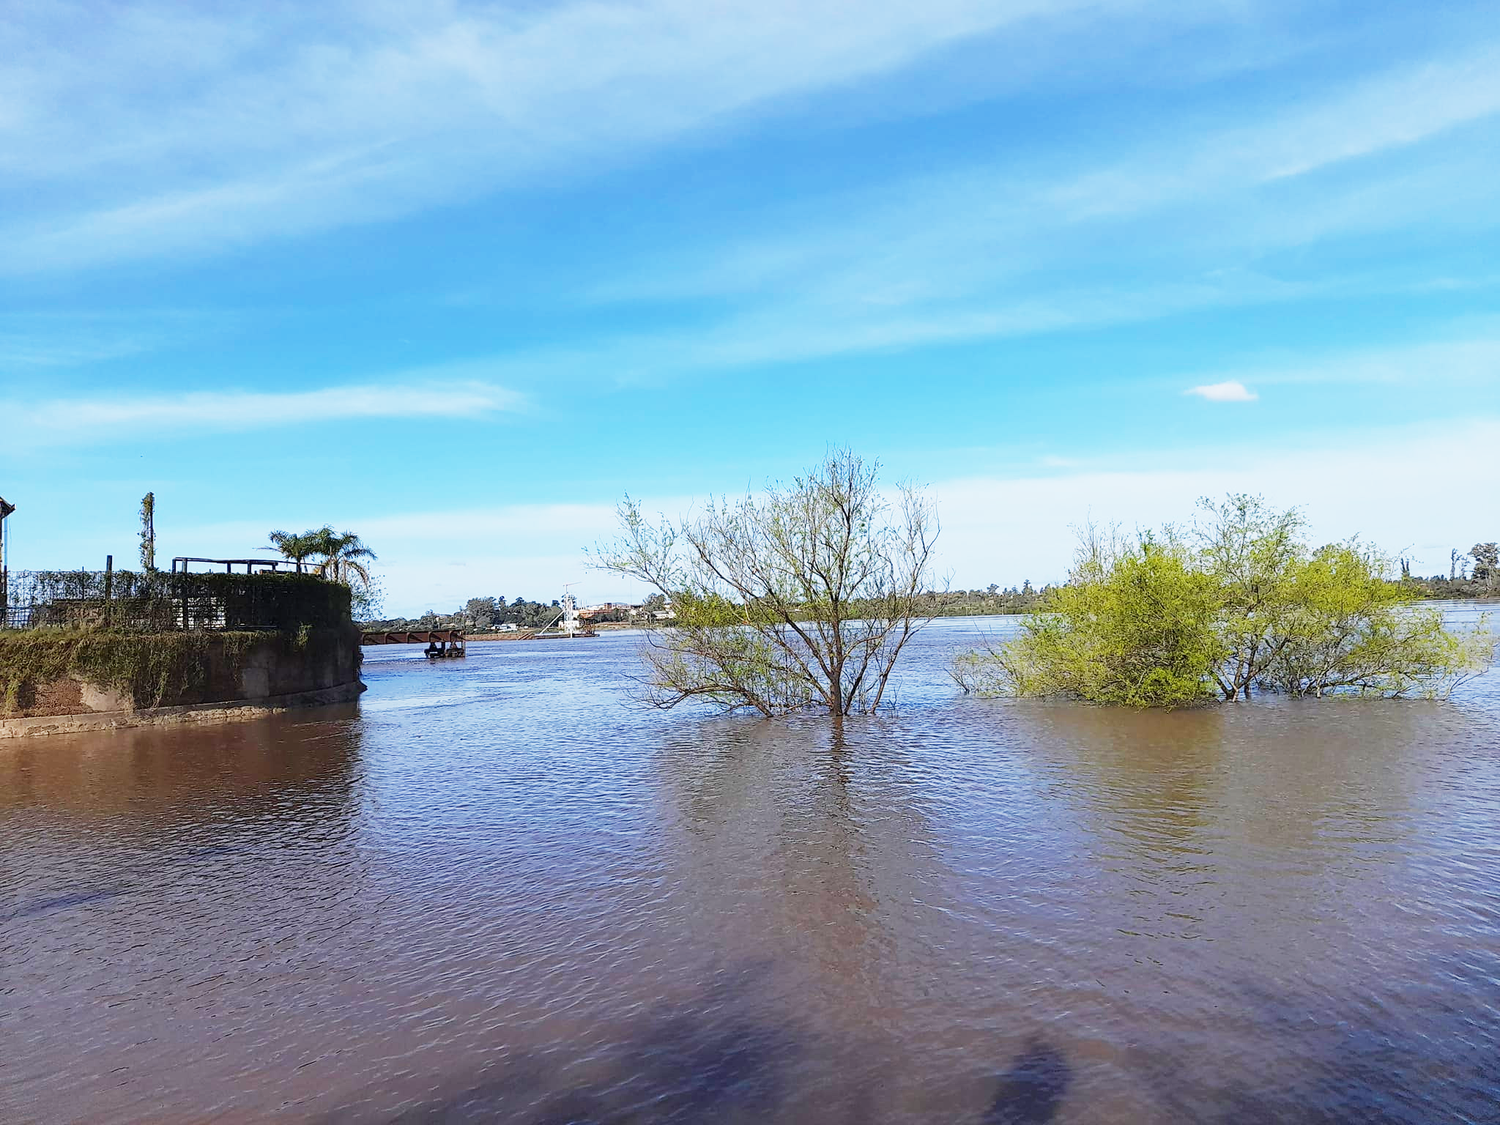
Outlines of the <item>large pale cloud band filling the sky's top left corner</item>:
M 842 0 L 33 8 L 0 27 L 0 178 L 27 201 L 0 268 L 393 218 L 1134 3 L 876 0 L 856 20 Z

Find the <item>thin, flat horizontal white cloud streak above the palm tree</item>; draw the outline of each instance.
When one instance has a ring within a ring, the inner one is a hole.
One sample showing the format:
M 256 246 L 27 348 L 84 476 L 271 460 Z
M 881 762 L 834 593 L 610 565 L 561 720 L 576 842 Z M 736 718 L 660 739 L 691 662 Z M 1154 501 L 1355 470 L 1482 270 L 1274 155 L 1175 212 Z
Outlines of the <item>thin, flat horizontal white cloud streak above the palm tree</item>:
M 524 399 L 484 382 L 208 392 L 0 404 L 15 447 L 84 444 L 182 430 L 225 432 L 362 418 L 484 417 Z

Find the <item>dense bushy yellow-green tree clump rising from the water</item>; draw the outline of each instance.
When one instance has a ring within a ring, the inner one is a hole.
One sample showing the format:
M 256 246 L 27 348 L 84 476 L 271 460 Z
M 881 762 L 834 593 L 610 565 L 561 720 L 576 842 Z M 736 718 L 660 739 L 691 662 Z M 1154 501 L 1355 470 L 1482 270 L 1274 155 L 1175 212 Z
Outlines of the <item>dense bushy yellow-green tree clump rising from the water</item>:
M 1122 546 L 1090 530 L 1068 585 L 954 676 L 975 692 L 1172 706 L 1252 688 L 1446 698 L 1488 668 L 1488 622 L 1444 628 L 1378 552 L 1311 550 L 1296 510 L 1256 496 L 1202 507 L 1188 540 L 1167 528 Z

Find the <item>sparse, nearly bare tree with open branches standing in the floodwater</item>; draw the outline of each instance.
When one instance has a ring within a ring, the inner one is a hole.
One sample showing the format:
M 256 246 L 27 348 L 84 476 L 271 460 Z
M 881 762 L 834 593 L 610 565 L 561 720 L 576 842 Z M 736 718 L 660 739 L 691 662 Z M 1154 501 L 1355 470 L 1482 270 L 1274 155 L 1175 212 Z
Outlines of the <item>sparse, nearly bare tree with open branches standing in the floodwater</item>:
M 650 584 L 675 616 L 646 650 L 651 702 L 708 699 L 764 716 L 879 708 L 902 650 L 927 624 L 938 520 L 910 486 L 886 500 L 879 465 L 848 450 L 760 496 L 646 522 L 628 496 L 600 566 Z

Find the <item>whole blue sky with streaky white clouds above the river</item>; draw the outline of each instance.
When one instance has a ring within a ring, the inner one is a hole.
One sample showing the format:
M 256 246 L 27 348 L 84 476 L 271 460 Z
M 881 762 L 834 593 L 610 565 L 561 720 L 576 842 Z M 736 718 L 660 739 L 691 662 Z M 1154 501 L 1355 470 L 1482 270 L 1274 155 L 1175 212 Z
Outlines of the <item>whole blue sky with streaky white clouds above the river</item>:
M 222 10 L 220 10 L 222 9 Z M 0 14 L 12 567 L 332 522 L 392 612 L 628 594 L 830 444 L 956 585 L 1227 489 L 1500 534 L 1492 3 L 592 0 Z

